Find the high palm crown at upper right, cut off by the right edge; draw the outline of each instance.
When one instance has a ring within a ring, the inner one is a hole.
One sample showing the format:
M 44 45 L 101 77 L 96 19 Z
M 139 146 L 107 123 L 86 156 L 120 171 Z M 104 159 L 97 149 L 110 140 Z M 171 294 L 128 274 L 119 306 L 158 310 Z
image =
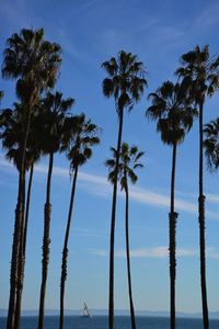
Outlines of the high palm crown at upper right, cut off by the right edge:
M 182 55 L 181 65 L 175 73 L 191 87 L 196 104 L 205 102 L 206 94 L 211 97 L 219 88 L 219 56 L 210 57 L 208 45 Z

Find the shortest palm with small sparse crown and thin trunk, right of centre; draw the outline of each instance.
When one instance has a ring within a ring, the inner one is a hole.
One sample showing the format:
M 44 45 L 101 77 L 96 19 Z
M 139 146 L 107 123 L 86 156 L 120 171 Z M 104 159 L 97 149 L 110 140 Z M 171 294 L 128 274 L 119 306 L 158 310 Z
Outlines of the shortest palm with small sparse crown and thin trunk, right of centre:
M 114 184 L 115 182 L 115 168 L 116 168 L 116 158 L 117 150 L 112 147 L 113 159 L 107 159 L 105 164 L 108 167 L 108 181 Z M 143 166 L 139 163 L 139 159 L 143 156 L 143 152 L 139 152 L 136 146 L 129 147 L 128 144 L 123 143 L 120 148 L 120 161 L 118 163 L 118 174 L 117 179 L 120 181 L 120 190 L 125 191 L 126 194 L 126 258 L 127 258 L 127 274 L 128 274 L 128 294 L 129 294 L 129 306 L 130 306 L 130 318 L 131 318 L 131 328 L 136 329 L 136 319 L 135 319 L 135 308 L 132 302 L 132 292 L 131 292 L 131 275 L 130 275 L 130 257 L 129 257 L 129 189 L 128 189 L 128 179 L 135 184 L 138 180 L 137 174 L 135 173 L 136 168 L 142 168 Z

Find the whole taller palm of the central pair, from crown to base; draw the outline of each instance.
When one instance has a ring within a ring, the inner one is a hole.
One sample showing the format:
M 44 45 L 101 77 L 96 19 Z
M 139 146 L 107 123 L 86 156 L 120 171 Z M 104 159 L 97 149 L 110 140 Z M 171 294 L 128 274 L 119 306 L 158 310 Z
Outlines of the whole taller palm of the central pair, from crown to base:
M 131 111 L 139 102 L 147 81 L 145 77 L 143 64 L 138 61 L 136 55 L 120 50 L 117 58 L 112 57 L 102 64 L 102 68 L 108 75 L 103 80 L 103 94 L 106 98 L 113 97 L 118 114 L 118 137 L 117 137 L 117 159 L 115 167 L 115 182 L 113 186 L 112 217 L 111 217 L 111 242 L 110 242 L 110 298 L 108 298 L 108 328 L 114 329 L 114 240 L 116 220 L 116 196 L 117 196 L 117 174 L 123 136 L 124 111 Z

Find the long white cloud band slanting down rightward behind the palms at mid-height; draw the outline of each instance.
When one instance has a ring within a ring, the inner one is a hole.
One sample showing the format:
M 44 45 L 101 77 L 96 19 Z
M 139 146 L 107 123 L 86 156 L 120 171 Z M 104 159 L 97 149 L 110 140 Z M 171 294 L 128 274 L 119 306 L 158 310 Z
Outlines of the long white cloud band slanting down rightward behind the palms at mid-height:
M 12 169 L 12 164 L 7 162 L 3 157 L 0 157 L 0 167 Z M 38 164 L 35 166 L 35 172 L 39 174 L 47 174 L 47 166 Z M 54 167 L 54 175 L 69 179 L 69 170 L 62 167 Z M 97 196 L 110 196 L 112 195 L 112 188 L 107 182 L 105 177 L 91 174 L 87 172 L 79 172 L 79 182 L 82 189 L 85 189 L 88 193 Z M 147 204 L 150 206 L 155 206 L 160 208 L 169 208 L 170 196 L 161 193 L 155 193 L 147 189 L 130 188 L 130 198 L 135 202 Z M 120 197 L 124 197 L 124 193 L 118 193 Z M 217 195 L 209 194 L 209 201 L 218 202 L 219 197 Z M 177 211 L 183 211 L 191 214 L 197 214 L 197 204 L 189 202 L 184 198 L 176 197 L 175 206 Z M 218 216 L 212 212 L 207 212 L 210 218 L 218 218 Z

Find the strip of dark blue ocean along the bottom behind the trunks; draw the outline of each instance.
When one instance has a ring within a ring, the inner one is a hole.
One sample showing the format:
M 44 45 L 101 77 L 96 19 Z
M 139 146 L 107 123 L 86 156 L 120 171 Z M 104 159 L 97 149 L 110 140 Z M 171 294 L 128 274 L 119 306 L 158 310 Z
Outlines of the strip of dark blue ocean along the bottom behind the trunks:
M 137 317 L 137 329 L 169 329 L 168 318 L 161 317 Z M 22 317 L 21 329 L 36 329 L 37 317 Z M 130 318 L 116 316 L 115 329 L 129 329 Z M 201 329 L 200 319 L 178 318 L 177 329 Z M 219 320 L 210 320 L 210 329 L 219 328 Z M 5 329 L 5 318 L 0 318 L 0 329 Z M 58 317 L 46 317 L 45 329 L 58 329 Z M 80 318 L 77 316 L 65 317 L 65 329 L 107 329 L 106 316 L 93 316 L 92 318 Z

